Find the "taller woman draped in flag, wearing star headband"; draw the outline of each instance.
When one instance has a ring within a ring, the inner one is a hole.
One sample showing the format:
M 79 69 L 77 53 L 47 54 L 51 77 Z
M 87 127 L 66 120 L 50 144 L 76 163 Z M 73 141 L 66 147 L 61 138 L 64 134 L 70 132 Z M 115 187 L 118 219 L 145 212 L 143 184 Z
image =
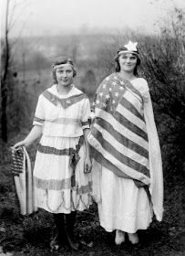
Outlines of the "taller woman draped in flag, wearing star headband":
M 159 138 L 148 82 L 139 78 L 137 43 L 118 50 L 116 72 L 101 82 L 88 135 L 92 154 L 93 196 L 100 225 L 116 230 L 116 244 L 139 242 L 153 213 L 163 213 L 163 176 Z

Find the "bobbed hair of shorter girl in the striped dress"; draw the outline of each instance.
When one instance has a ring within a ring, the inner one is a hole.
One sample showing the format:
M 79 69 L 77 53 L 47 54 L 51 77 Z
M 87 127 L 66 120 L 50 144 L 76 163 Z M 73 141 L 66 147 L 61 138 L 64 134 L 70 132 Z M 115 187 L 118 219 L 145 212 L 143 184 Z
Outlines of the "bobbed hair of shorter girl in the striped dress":
M 77 76 L 77 70 L 74 67 L 73 60 L 67 58 L 66 56 L 61 56 L 61 57 L 58 57 L 52 64 L 52 77 L 53 77 L 54 83 L 57 83 L 57 76 L 56 76 L 57 69 L 54 69 L 55 66 L 60 65 L 60 64 L 67 64 L 67 63 L 71 64 L 71 67 L 73 69 L 73 77 Z

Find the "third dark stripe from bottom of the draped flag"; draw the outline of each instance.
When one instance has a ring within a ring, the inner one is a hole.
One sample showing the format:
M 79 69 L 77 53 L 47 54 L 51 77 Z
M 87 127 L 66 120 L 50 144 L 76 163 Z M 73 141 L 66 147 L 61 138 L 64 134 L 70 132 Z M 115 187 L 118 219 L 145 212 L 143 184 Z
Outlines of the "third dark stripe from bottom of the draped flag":
M 149 151 L 147 151 L 145 148 L 143 148 L 139 144 L 136 144 L 133 141 L 129 140 L 123 134 L 118 133 L 113 128 L 113 125 L 111 123 L 108 123 L 107 121 L 102 120 L 101 118 L 98 118 L 96 120 L 96 123 L 98 123 L 98 125 L 100 125 L 103 129 L 107 130 L 108 133 L 110 133 L 118 142 L 120 142 L 124 146 L 128 147 L 130 150 L 132 150 L 146 158 L 149 158 Z M 96 125 L 96 123 L 95 123 L 95 125 Z

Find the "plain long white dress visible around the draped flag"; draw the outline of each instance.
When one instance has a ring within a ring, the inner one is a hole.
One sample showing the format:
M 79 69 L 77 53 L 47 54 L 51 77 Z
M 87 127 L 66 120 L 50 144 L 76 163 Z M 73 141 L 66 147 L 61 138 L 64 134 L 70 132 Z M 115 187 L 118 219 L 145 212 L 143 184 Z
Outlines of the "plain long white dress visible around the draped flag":
M 100 225 L 107 231 L 120 229 L 135 233 L 147 229 L 153 211 L 158 220 L 162 219 L 163 183 L 159 139 L 154 123 L 149 97 L 149 87 L 144 79 L 131 81 L 144 101 L 144 118 L 149 137 L 149 192 L 151 202 L 143 187 L 136 187 L 132 179 L 119 177 L 114 172 L 93 160 L 93 197 L 98 202 Z

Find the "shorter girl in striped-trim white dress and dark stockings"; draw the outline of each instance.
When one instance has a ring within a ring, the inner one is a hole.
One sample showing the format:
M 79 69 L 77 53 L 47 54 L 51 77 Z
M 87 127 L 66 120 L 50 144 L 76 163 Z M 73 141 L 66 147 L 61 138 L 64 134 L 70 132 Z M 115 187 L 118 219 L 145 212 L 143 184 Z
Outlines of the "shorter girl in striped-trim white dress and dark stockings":
M 31 132 L 14 148 L 28 146 L 42 136 L 34 167 L 36 205 L 54 215 L 57 235 L 50 242 L 51 249 L 57 250 L 66 240 L 77 250 L 73 236 L 76 212 L 91 204 L 90 104 L 73 84 L 77 71 L 71 59 L 58 58 L 52 74 L 54 85 L 38 98 Z

